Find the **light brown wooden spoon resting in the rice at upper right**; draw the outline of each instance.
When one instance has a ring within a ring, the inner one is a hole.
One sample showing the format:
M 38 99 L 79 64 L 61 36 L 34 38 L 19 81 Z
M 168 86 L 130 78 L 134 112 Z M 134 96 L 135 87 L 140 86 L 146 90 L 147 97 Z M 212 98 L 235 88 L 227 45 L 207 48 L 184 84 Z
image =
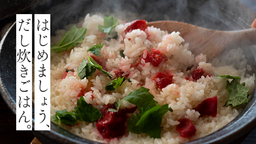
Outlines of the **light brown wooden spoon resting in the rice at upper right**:
M 177 21 L 148 22 L 147 25 L 169 33 L 180 32 L 180 36 L 185 39 L 185 43 L 190 44 L 190 51 L 195 56 L 201 53 L 206 54 L 207 61 L 210 61 L 224 49 L 256 44 L 256 28 L 219 31 Z

